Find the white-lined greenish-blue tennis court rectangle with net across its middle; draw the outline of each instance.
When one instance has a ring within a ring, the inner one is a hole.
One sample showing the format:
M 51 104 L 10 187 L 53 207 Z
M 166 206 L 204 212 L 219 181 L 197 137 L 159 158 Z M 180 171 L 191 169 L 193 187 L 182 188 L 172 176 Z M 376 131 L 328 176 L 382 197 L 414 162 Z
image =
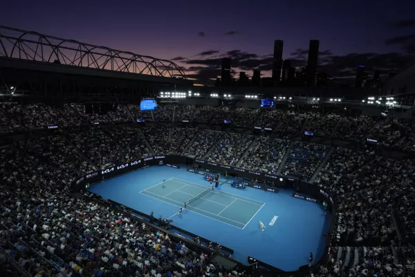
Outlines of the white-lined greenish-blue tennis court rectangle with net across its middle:
M 167 179 L 164 186 L 163 183 L 156 184 L 140 193 L 239 229 L 244 229 L 265 205 L 177 178 Z

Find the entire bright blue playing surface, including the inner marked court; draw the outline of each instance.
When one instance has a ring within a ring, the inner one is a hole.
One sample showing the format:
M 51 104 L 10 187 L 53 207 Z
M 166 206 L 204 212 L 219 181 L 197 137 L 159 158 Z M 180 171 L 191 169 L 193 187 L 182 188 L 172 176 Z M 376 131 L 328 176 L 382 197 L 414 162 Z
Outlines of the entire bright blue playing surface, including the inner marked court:
M 222 177 L 216 190 L 184 166 L 151 166 L 94 184 L 89 190 L 142 213 L 154 211 L 155 217 L 168 217 L 174 226 L 233 249 L 233 257 L 243 263 L 252 256 L 293 271 L 308 264 L 310 252 L 315 261 L 320 259 L 322 234 L 330 224 L 330 215 L 324 215 L 321 205 L 292 197 L 293 190 L 238 189 L 230 186 L 231 181 Z M 183 215 L 178 215 L 180 208 Z M 265 231 L 259 229 L 259 221 Z

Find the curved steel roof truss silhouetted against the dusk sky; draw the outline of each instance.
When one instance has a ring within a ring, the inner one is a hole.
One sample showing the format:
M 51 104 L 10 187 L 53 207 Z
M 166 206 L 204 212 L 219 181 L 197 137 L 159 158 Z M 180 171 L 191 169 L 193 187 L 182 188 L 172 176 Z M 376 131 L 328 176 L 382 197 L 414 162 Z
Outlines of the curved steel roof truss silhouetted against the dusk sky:
M 187 80 L 169 60 L 0 26 L 0 57 Z

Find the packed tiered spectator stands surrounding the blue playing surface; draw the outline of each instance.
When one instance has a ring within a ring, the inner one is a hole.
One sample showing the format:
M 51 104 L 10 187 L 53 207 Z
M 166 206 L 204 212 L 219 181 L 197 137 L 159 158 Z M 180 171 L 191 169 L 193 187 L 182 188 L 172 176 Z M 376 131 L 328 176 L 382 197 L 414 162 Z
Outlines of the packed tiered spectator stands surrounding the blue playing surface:
M 397 161 L 378 150 L 414 152 L 414 121 L 239 107 L 139 109 L 119 105 L 100 115 L 86 114 L 84 105 L 74 103 L 0 104 L 0 132 L 7 138 L 0 148 L 1 276 L 20 276 L 17 270 L 30 276 L 181 276 L 191 271 L 195 276 L 206 271 L 231 276 L 212 265 L 211 253 L 195 253 L 149 225 L 68 194 L 71 181 L 81 174 L 150 154 L 193 154 L 314 181 L 339 202 L 331 234 L 335 242 L 314 276 L 413 276 L 415 166 L 410 159 Z M 232 125 L 246 129 L 237 133 L 158 125 L 172 122 L 173 115 L 176 122 L 193 118 L 205 125 L 230 118 Z M 133 122 L 151 122 L 153 117 L 154 125 Z M 39 132 L 48 125 L 60 128 Z M 273 132 L 252 135 L 254 125 Z M 301 139 L 303 127 L 317 136 L 333 133 L 337 139 L 360 142 L 375 137 L 381 143 L 342 148 L 284 139 L 286 134 Z M 22 133 L 27 136 L 15 136 Z

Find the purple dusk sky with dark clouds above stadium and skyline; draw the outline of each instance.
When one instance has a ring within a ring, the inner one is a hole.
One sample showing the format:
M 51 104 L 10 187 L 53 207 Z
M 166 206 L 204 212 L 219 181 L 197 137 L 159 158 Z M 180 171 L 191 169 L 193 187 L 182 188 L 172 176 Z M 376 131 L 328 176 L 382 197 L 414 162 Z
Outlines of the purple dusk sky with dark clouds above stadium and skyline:
M 194 66 L 186 73 L 202 83 L 219 72 L 217 58 L 234 50 L 241 51 L 229 53 L 240 65 L 236 71 L 250 75 L 261 66 L 268 75 L 266 55 L 275 39 L 284 40 L 283 57 L 296 66 L 304 65 L 306 53 L 291 54 L 319 39 L 320 51 L 328 54 L 320 58 L 322 70 L 342 78 L 358 64 L 386 73 L 415 54 L 415 1 L 7 2 L 2 25 L 158 58 L 183 57 L 177 63 Z M 219 52 L 198 55 L 211 50 Z

